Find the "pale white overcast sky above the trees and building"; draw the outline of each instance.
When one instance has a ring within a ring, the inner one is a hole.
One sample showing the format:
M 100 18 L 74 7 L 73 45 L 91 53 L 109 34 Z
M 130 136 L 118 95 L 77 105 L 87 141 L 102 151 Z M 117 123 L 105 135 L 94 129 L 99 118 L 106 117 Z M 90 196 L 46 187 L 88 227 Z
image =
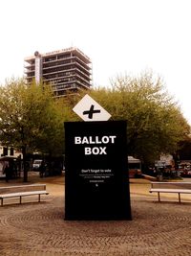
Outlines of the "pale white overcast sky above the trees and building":
M 96 85 L 152 70 L 191 124 L 190 13 L 190 0 L 2 0 L 0 83 L 23 77 L 35 51 L 74 46 Z

